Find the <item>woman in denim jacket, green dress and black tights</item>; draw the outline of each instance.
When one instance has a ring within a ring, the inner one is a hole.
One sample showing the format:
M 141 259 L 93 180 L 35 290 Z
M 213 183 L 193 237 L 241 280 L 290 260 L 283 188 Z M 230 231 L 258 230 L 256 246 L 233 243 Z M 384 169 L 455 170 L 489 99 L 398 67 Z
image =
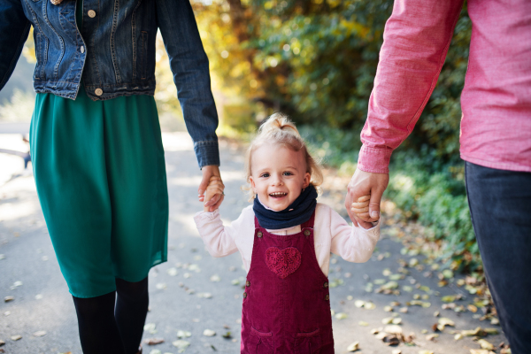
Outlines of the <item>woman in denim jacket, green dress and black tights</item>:
M 139 352 L 168 197 L 155 91 L 160 30 L 204 181 L 219 176 L 208 58 L 188 0 L 4 0 L 0 89 L 34 27 L 37 192 L 86 354 Z M 211 204 L 219 204 L 217 196 Z

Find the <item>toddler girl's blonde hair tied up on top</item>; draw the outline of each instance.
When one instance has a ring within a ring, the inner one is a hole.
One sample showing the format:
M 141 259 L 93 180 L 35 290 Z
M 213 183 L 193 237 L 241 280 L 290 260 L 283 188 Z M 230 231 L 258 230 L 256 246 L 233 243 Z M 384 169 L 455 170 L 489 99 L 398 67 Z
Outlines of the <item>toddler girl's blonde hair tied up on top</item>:
M 265 143 L 277 143 L 293 151 L 302 151 L 304 160 L 306 162 L 306 172 L 310 173 L 310 184 L 318 189 L 318 186 L 323 182 L 323 173 L 321 172 L 319 161 L 312 158 L 303 137 L 299 134 L 295 124 L 289 120 L 288 116 L 282 113 L 273 113 L 262 125 L 258 128 L 258 134 L 250 142 L 250 146 L 245 154 L 245 180 L 249 185 L 244 189 L 249 189 L 250 199 L 252 201 L 256 194 L 250 188 L 250 161 L 252 153 Z M 320 192 L 320 189 L 318 189 Z

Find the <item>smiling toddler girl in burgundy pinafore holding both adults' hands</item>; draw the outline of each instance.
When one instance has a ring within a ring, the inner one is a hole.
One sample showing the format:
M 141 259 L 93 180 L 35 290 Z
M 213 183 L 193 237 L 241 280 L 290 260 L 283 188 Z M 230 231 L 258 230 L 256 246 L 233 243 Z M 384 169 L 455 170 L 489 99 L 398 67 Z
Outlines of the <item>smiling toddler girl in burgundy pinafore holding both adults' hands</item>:
M 258 130 L 246 158 L 252 205 L 223 226 L 219 211 L 194 217 L 213 257 L 242 255 L 247 281 L 242 305 L 241 352 L 334 353 L 328 295 L 330 252 L 366 262 L 380 237 L 378 222 L 350 227 L 316 201 L 319 165 L 293 123 L 273 114 Z M 213 177 L 204 201 L 223 193 Z M 368 197 L 353 204 L 364 212 Z

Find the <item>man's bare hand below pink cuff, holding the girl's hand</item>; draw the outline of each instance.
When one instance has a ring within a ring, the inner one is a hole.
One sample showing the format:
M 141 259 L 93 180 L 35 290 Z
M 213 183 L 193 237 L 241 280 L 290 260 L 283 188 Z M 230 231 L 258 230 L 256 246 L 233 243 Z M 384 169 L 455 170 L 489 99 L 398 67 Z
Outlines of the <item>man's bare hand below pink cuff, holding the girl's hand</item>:
M 389 184 L 388 173 L 370 173 L 356 170 L 347 186 L 347 196 L 345 197 L 345 208 L 349 213 L 350 220 L 354 225 L 364 228 L 372 227 L 371 221 L 380 219 L 380 202 L 383 192 Z M 364 217 L 358 217 L 352 212 L 352 203 L 358 201 L 361 196 L 371 195 L 369 202 L 369 212 Z

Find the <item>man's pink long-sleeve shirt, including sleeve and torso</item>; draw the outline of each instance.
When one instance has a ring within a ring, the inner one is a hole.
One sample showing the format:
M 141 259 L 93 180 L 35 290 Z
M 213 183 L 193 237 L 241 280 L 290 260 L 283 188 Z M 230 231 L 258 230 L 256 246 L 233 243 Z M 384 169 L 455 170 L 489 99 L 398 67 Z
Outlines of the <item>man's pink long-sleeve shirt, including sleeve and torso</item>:
M 389 173 L 450 46 L 463 0 L 396 0 L 383 34 L 358 168 Z M 469 0 L 472 39 L 461 93 L 461 158 L 531 172 L 531 1 Z

